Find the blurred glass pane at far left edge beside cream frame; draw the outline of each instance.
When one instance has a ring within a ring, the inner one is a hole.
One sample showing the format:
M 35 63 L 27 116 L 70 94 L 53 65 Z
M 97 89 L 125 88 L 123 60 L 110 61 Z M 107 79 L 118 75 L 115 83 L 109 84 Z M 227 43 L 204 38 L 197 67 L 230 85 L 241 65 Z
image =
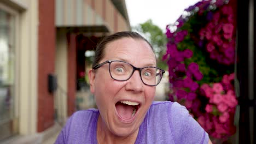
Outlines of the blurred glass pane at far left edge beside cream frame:
M 18 99 L 15 97 L 16 16 L 0 3 L 0 141 L 18 133 Z

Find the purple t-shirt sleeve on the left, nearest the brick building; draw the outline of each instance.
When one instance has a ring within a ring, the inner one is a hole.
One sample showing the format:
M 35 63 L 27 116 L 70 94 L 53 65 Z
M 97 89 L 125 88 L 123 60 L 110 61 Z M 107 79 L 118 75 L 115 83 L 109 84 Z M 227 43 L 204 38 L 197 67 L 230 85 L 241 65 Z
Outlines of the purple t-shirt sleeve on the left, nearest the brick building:
M 72 123 L 73 116 L 71 116 L 68 121 L 66 122 L 65 127 L 62 128 L 59 136 L 57 137 L 56 141 L 54 142 L 55 144 L 63 144 L 63 143 L 68 143 L 68 136 L 69 136 L 69 131 L 70 131 L 70 126 Z

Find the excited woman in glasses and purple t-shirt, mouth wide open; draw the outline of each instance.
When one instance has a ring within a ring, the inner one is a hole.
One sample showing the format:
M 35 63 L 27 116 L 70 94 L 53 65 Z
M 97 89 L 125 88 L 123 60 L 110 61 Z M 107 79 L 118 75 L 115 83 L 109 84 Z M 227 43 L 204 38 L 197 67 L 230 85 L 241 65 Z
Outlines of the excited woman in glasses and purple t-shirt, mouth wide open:
M 105 37 L 89 71 L 98 110 L 75 112 L 55 143 L 208 143 L 184 106 L 153 102 L 164 70 L 136 32 Z

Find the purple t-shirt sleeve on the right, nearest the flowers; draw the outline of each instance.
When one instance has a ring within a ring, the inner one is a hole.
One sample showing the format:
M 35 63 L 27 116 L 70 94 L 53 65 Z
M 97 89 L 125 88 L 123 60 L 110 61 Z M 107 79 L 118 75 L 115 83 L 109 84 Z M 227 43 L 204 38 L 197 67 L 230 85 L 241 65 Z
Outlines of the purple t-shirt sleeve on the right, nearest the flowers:
M 208 143 L 208 134 L 189 115 L 188 110 L 184 106 L 173 103 L 169 110 L 169 123 L 175 143 Z

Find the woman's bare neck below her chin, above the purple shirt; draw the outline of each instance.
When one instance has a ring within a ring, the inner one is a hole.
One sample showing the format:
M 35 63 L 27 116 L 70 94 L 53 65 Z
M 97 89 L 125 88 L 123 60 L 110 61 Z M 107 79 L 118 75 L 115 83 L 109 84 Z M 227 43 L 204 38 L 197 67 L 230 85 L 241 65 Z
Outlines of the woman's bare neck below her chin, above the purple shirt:
M 118 136 L 113 134 L 102 121 L 101 116 L 97 122 L 97 141 L 98 143 L 135 143 L 139 129 L 128 136 Z

